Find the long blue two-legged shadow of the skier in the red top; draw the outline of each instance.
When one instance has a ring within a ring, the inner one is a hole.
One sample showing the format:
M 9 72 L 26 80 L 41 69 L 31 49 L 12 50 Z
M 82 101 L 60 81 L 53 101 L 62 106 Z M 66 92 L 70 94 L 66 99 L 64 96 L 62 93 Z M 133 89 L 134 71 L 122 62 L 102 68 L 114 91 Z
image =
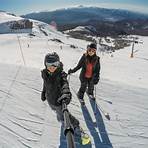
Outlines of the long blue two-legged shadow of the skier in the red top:
M 96 119 L 95 126 L 92 126 L 94 122 L 89 114 L 87 107 L 82 106 L 81 108 L 82 108 L 82 112 L 83 112 L 86 125 L 90 131 L 90 134 L 93 137 L 95 147 L 96 148 L 113 148 L 109 140 L 108 133 L 105 129 L 104 121 L 100 113 L 100 110 L 98 109 L 98 107 L 96 107 L 96 115 L 95 115 L 95 101 L 90 100 L 90 104 L 91 104 L 91 107 L 93 109 L 94 116 Z

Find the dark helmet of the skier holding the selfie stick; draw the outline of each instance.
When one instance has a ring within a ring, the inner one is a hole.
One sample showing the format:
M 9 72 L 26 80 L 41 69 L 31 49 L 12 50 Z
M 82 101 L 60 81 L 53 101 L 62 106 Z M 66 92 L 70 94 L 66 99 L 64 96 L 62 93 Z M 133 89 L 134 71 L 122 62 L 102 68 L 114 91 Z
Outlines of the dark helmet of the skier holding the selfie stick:
M 60 63 L 60 58 L 56 52 L 46 54 L 45 59 L 44 59 L 44 65 L 46 68 L 47 68 L 48 63 L 55 63 L 55 62 Z

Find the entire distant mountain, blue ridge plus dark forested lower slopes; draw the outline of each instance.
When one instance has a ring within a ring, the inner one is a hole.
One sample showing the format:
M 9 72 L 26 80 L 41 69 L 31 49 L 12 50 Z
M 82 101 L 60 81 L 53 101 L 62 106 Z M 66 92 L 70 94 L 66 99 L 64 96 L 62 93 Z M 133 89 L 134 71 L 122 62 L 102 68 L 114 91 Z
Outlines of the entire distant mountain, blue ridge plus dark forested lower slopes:
M 74 7 L 55 11 L 35 12 L 22 16 L 45 23 L 56 22 L 58 30 L 67 31 L 78 26 L 93 26 L 96 36 L 125 34 L 148 36 L 148 15 L 121 9 Z M 72 37 L 76 37 L 71 34 Z M 83 36 L 82 34 L 79 34 Z M 78 35 L 78 36 L 79 36 Z

